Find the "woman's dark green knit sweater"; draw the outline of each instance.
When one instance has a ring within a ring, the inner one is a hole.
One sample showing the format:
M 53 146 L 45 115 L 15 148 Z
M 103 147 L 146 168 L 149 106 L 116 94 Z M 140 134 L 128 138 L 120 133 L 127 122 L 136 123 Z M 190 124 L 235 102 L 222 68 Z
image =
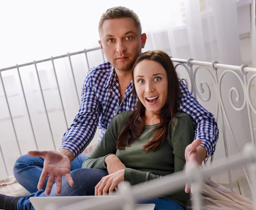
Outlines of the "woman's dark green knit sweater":
M 105 157 L 115 154 L 126 167 L 124 180 L 131 184 L 138 184 L 183 170 L 186 163 L 185 148 L 192 143 L 195 137 L 195 128 L 189 115 L 176 112 L 176 115 L 181 118 L 173 119 L 175 126 L 170 121 L 166 141 L 157 151 L 145 152 L 143 150 L 143 145 L 150 141 L 154 134 L 151 130 L 157 124 L 145 125 L 139 140 L 134 141 L 130 147 L 125 147 L 125 150 L 116 150 L 117 136 L 129 115 L 131 112 L 123 112 L 113 118 L 102 140 L 84 161 L 82 167 L 107 170 Z M 189 200 L 189 194 L 186 194 L 184 189 L 161 197 L 172 199 L 185 208 Z

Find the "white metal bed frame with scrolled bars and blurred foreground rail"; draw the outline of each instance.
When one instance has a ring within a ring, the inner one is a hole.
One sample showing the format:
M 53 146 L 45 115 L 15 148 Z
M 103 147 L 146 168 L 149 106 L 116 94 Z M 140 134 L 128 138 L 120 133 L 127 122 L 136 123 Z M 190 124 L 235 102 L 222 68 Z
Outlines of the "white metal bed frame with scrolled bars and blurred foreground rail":
M 17 142 L 18 147 L 19 147 L 19 141 L 18 141 L 18 137 L 17 137 L 16 131 L 15 131 L 15 125 L 14 125 L 14 122 L 13 122 L 12 113 L 11 113 L 11 110 L 10 110 L 8 97 L 6 95 L 6 89 L 5 89 L 5 86 L 4 86 L 4 83 L 3 83 L 3 78 L 2 78 L 1 73 L 3 71 L 7 71 L 7 70 L 10 70 L 10 69 L 17 69 L 17 73 L 18 73 L 19 81 L 20 81 L 20 85 L 21 85 L 21 90 L 22 90 L 22 93 L 23 93 L 23 99 L 24 99 L 24 102 L 25 102 L 25 105 L 26 105 L 26 111 L 27 111 L 27 114 L 28 114 L 28 117 L 29 117 L 29 123 L 30 123 L 31 129 L 32 129 L 36 149 L 38 149 L 37 141 L 36 141 L 36 138 L 35 138 L 35 133 L 34 133 L 34 130 L 33 130 L 33 124 L 32 124 L 31 118 L 30 118 L 30 114 L 29 114 L 29 108 L 28 108 L 28 105 L 27 105 L 27 102 L 26 102 L 26 95 L 25 95 L 25 92 L 24 92 L 24 89 L 23 89 L 23 83 L 22 83 L 22 80 L 21 80 L 21 77 L 20 77 L 20 69 L 19 68 L 23 67 L 23 66 L 30 66 L 30 65 L 35 66 L 35 71 L 36 71 L 37 80 L 38 80 L 39 87 L 40 87 L 41 97 L 43 99 L 44 110 L 46 112 L 47 122 L 48 122 L 49 130 L 51 132 L 52 141 L 53 141 L 53 144 L 54 144 L 53 135 L 52 135 L 52 128 L 51 128 L 51 125 L 50 125 L 49 116 L 47 114 L 47 106 L 46 106 L 46 103 L 45 103 L 45 100 L 44 100 L 44 94 L 43 94 L 43 91 L 42 91 L 41 82 L 40 82 L 40 78 L 39 78 L 39 75 L 38 75 L 37 64 L 47 62 L 47 61 L 52 62 L 52 67 L 53 67 L 53 71 L 54 71 L 54 75 L 55 75 L 55 81 L 56 81 L 57 87 L 58 87 L 58 94 L 60 96 L 61 106 L 62 106 L 62 109 L 63 109 L 63 115 L 64 115 L 66 126 L 68 126 L 66 114 L 65 114 L 65 111 L 64 111 L 63 101 L 62 101 L 62 98 L 61 98 L 61 92 L 60 92 L 60 88 L 59 88 L 59 85 L 58 85 L 58 78 L 57 78 L 56 71 L 55 71 L 54 61 L 56 59 L 66 58 L 66 57 L 69 59 L 70 68 L 71 68 L 71 72 L 72 72 L 72 76 L 73 76 L 73 82 L 74 82 L 74 85 L 76 86 L 76 81 L 75 81 L 75 77 L 74 77 L 73 64 L 72 64 L 72 61 L 71 61 L 71 56 L 78 55 L 78 54 L 84 54 L 85 59 L 87 61 L 87 67 L 89 69 L 89 62 L 88 62 L 87 53 L 92 52 L 92 51 L 96 51 L 96 50 L 99 50 L 99 49 L 100 49 L 99 47 L 93 48 L 93 49 L 84 49 L 84 50 L 79 51 L 79 52 L 67 53 L 65 55 L 60 55 L 60 56 L 56 56 L 56 57 L 47 58 L 47 59 L 44 59 L 44 60 L 33 61 L 33 62 L 30 62 L 30 63 L 24 63 L 24 64 L 21 64 L 21 65 L 16 65 L 16 66 L 11 66 L 11 67 L 8 67 L 8 68 L 0 69 L 0 81 L 1 81 L 2 86 L 3 86 L 3 92 L 4 92 L 5 99 L 6 99 L 6 104 L 8 106 L 8 111 L 9 111 L 10 119 L 11 119 L 11 122 L 12 122 L 12 128 L 13 128 L 13 131 L 14 131 L 14 134 L 15 134 L 15 138 L 16 138 L 16 142 Z M 102 58 L 104 59 L 103 54 L 102 54 Z M 191 93 L 194 95 L 195 98 L 200 98 L 202 101 L 209 101 L 211 95 L 209 95 L 208 98 L 203 98 L 203 96 L 200 94 L 200 92 L 198 91 L 198 87 L 196 85 L 196 79 L 195 79 L 196 78 L 196 73 L 198 72 L 198 69 L 204 69 L 206 72 L 209 73 L 209 76 L 210 76 L 210 78 L 213 82 L 214 88 L 215 88 L 216 98 L 217 98 L 217 103 L 216 103 L 217 116 L 215 116 L 215 117 L 216 117 L 216 121 L 218 121 L 218 126 L 222 127 L 222 130 L 223 130 L 222 135 L 223 135 L 223 139 L 224 139 L 225 153 L 226 153 L 226 157 L 228 159 L 230 159 L 230 161 L 227 161 L 226 163 L 223 163 L 223 161 L 221 161 L 220 164 L 218 164 L 218 161 L 217 161 L 216 162 L 217 164 L 214 163 L 212 165 L 212 167 L 206 167 L 201 172 L 199 170 L 196 170 L 195 168 L 193 168 L 187 174 L 183 173 L 183 172 L 180 172 L 180 173 L 177 173 L 175 175 L 169 175 L 169 176 L 163 177 L 161 179 L 148 181 L 147 183 L 138 184 L 138 185 L 133 186 L 133 187 L 131 187 L 128 183 L 123 183 L 123 185 L 120 187 L 119 192 L 116 193 L 116 195 L 119 195 L 119 196 L 116 196 L 115 201 L 112 200 L 113 202 L 111 201 L 110 203 L 108 203 L 108 205 L 113 207 L 113 209 L 117 209 L 121 206 L 123 206 L 124 207 L 123 209 L 125 209 L 125 210 L 133 209 L 133 204 L 135 202 L 140 201 L 140 200 L 145 199 L 145 198 L 148 198 L 148 197 L 157 196 L 159 194 L 172 193 L 175 190 L 185 186 L 184 183 L 189 181 L 189 182 L 197 183 L 197 185 L 194 185 L 194 190 L 195 190 L 195 193 L 193 194 L 193 197 L 195 198 L 194 199 L 194 201 L 195 201 L 194 202 L 194 207 L 195 207 L 195 209 L 200 210 L 201 209 L 201 203 L 200 203 L 200 195 L 199 195 L 199 186 L 200 186 L 200 183 L 203 180 L 203 178 L 209 177 L 210 175 L 214 175 L 214 174 L 217 174 L 218 172 L 221 172 L 223 170 L 228 169 L 230 189 L 233 190 L 233 184 L 232 184 L 232 177 L 231 177 L 230 169 L 239 167 L 241 165 L 244 166 L 245 164 L 249 164 L 249 163 L 251 164 L 251 167 L 249 168 L 250 173 L 254 174 L 253 177 L 255 177 L 255 174 L 256 174 L 256 166 L 255 166 L 256 150 L 254 149 L 255 138 L 254 138 L 254 133 L 253 133 L 253 122 L 252 122 L 251 110 L 253 110 L 253 112 L 256 113 L 256 109 L 255 109 L 255 107 L 253 105 L 253 102 L 252 102 L 252 99 L 250 97 L 250 86 L 251 86 L 251 83 L 252 83 L 253 79 L 256 78 L 256 74 L 255 74 L 256 73 L 256 68 L 248 67 L 245 64 L 243 64 L 241 66 L 231 66 L 231 65 L 220 64 L 217 61 L 213 61 L 212 63 L 201 62 L 201 61 L 195 61 L 191 58 L 189 58 L 188 60 L 172 58 L 172 61 L 175 63 L 175 68 L 177 68 L 178 66 L 182 66 L 184 69 L 186 69 L 186 71 L 189 75 L 189 80 L 191 82 Z M 209 69 L 211 69 L 211 71 Z M 224 69 L 224 71 L 221 70 L 222 71 L 221 74 L 218 75 L 219 71 L 217 69 Z M 244 91 L 243 105 L 240 108 L 237 108 L 233 103 L 231 93 L 233 91 L 235 91 L 236 96 L 239 98 L 239 92 L 235 87 L 230 89 L 230 103 L 231 103 L 232 107 L 235 110 L 238 110 L 238 111 L 242 110 L 242 109 L 245 109 L 245 107 L 247 107 L 247 113 L 248 113 L 249 124 L 250 124 L 251 145 L 252 146 L 250 148 L 247 148 L 246 152 L 244 154 L 240 154 L 239 147 L 237 145 L 236 138 L 233 134 L 233 130 L 230 126 L 230 122 L 229 122 L 229 119 L 227 117 L 227 112 L 225 110 L 224 103 L 223 103 L 223 98 L 222 98 L 222 95 L 221 95 L 221 81 L 222 81 L 224 75 L 227 72 L 231 72 L 234 75 L 236 75 L 236 77 L 241 82 L 241 85 L 242 85 L 243 91 Z M 254 73 L 254 75 L 252 75 L 250 78 L 247 78 L 247 73 L 248 72 L 252 72 L 252 73 Z M 188 85 L 188 80 L 187 79 L 183 79 L 183 80 Z M 207 89 L 210 92 L 209 85 L 204 81 L 202 81 L 199 84 L 201 92 L 204 92 L 203 85 L 205 87 L 207 87 Z M 76 96 L 77 96 L 77 100 L 80 103 L 79 93 L 77 91 L 77 88 L 76 88 Z M 221 116 L 221 120 L 218 119 L 219 116 Z M 231 133 L 233 143 L 235 144 L 235 147 L 236 147 L 236 151 L 237 151 L 237 153 L 239 153 L 239 155 L 235 155 L 233 157 L 231 156 L 232 158 L 229 157 L 229 155 L 228 155 L 228 147 L 227 147 L 227 139 L 226 139 L 224 119 L 225 119 L 225 121 L 227 123 L 227 127 L 228 127 L 228 129 Z M 55 144 L 54 144 L 54 147 L 55 147 Z M 56 149 L 56 147 L 55 147 L 55 149 Z M 21 155 L 20 147 L 19 147 L 19 152 L 20 152 L 20 155 Z M 1 145 L 0 145 L 0 153 L 1 153 L 2 158 L 4 160 Z M 248 155 L 247 153 L 249 153 L 250 155 Z M 212 158 L 211 158 L 211 161 L 212 161 Z M 4 163 L 4 166 L 5 166 L 6 172 L 8 173 L 6 163 Z M 244 174 L 247 178 L 248 184 L 250 186 L 250 190 L 252 191 L 253 196 L 255 196 L 255 193 L 254 193 L 255 190 L 253 190 L 253 189 L 256 189 L 255 180 L 254 180 L 254 178 L 252 180 L 250 180 L 248 171 L 246 170 L 245 167 L 243 169 L 244 169 Z M 169 184 L 172 184 L 172 188 L 168 187 L 168 186 L 170 186 Z M 255 201 L 255 199 L 256 198 L 254 197 L 254 201 Z M 123 205 L 123 203 L 125 203 L 125 205 Z M 81 203 L 77 204 L 75 209 L 77 209 L 77 210 L 79 210 L 79 209 L 81 209 L 81 210 L 82 209 L 90 209 L 90 210 L 95 209 L 96 210 L 96 209 L 99 209 L 99 208 L 104 209 L 102 207 L 104 207 L 105 205 L 106 205 L 106 203 L 100 204 L 99 202 L 97 202 L 97 204 L 95 204 L 93 202 L 93 199 L 92 199 L 91 201 L 89 201 L 89 200 L 86 201 L 86 208 L 84 207 L 85 205 L 83 204 L 83 202 L 81 202 Z M 74 206 L 72 206 L 72 208 L 74 208 Z M 68 209 L 68 207 L 65 208 L 65 209 Z

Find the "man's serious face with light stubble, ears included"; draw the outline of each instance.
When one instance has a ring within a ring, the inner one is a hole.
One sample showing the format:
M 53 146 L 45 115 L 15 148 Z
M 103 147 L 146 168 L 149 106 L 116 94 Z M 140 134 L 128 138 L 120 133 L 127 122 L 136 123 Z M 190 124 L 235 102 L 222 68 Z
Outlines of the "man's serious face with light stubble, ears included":
M 99 44 L 102 52 L 116 70 L 131 70 L 146 42 L 134 20 L 123 17 L 105 20 L 100 29 Z

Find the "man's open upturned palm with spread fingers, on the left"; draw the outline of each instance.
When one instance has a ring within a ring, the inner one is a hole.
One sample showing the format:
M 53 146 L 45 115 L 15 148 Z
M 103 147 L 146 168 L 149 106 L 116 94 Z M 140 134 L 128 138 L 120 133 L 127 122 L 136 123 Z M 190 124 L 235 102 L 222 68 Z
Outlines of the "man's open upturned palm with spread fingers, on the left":
M 44 186 L 44 182 L 47 181 L 45 189 L 45 195 L 49 196 L 52 190 L 52 185 L 56 177 L 56 194 L 61 193 L 62 176 L 65 176 L 71 187 L 74 186 L 73 179 L 70 176 L 70 158 L 67 155 L 61 154 L 55 150 L 49 151 L 29 151 L 28 155 L 32 157 L 43 157 L 44 167 L 43 172 L 38 182 L 38 190 L 41 190 Z

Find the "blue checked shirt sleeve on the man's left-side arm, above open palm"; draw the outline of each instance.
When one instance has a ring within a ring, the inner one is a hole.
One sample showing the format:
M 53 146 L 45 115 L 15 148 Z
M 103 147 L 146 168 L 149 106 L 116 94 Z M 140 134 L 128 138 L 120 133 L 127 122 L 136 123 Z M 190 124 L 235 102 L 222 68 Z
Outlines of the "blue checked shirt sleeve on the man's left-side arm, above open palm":
M 79 111 L 71 126 L 64 133 L 60 147 L 73 152 L 75 158 L 92 141 L 99 116 L 102 113 L 102 106 L 96 96 L 91 74 L 92 71 L 89 70 L 82 88 Z

